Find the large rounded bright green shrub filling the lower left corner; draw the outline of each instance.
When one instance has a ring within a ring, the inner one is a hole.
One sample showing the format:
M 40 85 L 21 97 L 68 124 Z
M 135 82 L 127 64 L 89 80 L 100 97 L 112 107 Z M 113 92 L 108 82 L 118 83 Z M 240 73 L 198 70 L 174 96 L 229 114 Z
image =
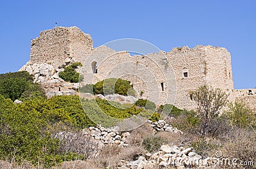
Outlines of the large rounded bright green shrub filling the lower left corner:
M 51 162 L 45 159 L 55 154 L 58 140 L 53 140 L 47 133 L 47 124 L 40 113 L 23 104 L 6 107 L 4 105 L 10 105 L 10 102 L 1 96 L 0 103 L 0 125 L 4 126 L 0 137 L 1 156 L 49 165 Z

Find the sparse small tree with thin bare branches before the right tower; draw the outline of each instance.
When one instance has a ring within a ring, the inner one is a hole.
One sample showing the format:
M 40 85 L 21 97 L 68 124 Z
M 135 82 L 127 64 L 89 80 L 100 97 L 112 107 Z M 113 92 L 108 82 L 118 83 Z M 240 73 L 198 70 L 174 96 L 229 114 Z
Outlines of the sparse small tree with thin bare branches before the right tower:
M 189 93 L 198 106 L 197 112 L 200 117 L 200 134 L 205 135 L 209 122 L 220 114 L 221 108 L 227 105 L 228 94 L 220 88 L 213 89 L 211 86 L 202 85 L 196 91 Z

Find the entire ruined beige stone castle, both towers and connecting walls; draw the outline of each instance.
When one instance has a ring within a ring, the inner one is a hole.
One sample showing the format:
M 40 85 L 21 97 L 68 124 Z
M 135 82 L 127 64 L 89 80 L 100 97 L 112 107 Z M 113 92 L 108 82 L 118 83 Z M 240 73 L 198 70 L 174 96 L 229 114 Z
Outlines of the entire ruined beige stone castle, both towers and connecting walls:
M 104 46 L 93 48 L 90 34 L 77 27 L 55 27 L 31 40 L 29 64 L 47 62 L 58 69 L 75 61 L 83 63 L 85 84 L 111 77 L 124 78 L 132 82 L 138 93 L 143 91 L 141 98 L 158 105 L 172 103 L 193 109 L 196 105 L 189 92 L 204 84 L 226 91 L 229 101 L 240 98 L 255 103 L 256 89 L 252 89 L 250 96 L 234 90 L 231 57 L 225 48 L 198 45 L 131 57 L 127 52 Z M 93 62 L 97 62 L 97 73 L 93 73 Z

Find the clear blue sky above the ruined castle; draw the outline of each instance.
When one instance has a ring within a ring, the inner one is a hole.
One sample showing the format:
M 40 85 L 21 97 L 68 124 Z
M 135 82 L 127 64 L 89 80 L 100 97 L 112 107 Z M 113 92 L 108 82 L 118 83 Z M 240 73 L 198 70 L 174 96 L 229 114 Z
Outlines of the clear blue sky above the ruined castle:
M 29 61 L 30 40 L 40 31 L 77 26 L 94 47 L 137 38 L 161 50 L 212 45 L 232 57 L 235 89 L 256 87 L 256 1 L 7 1 L 0 2 L 0 73 Z

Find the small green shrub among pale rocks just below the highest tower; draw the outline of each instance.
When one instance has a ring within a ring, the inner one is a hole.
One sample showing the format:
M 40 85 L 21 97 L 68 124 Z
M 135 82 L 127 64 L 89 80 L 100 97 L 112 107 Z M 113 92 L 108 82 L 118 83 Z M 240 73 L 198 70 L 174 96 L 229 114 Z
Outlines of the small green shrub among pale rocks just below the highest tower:
M 77 83 L 79 82 L 79 73 L 76 72 L 77 66 L 82 66 L 81 62 L 74 62 L 70 66 L 66 66 L 64 71 L 59 73 L 59 77 L 66 82 Z

